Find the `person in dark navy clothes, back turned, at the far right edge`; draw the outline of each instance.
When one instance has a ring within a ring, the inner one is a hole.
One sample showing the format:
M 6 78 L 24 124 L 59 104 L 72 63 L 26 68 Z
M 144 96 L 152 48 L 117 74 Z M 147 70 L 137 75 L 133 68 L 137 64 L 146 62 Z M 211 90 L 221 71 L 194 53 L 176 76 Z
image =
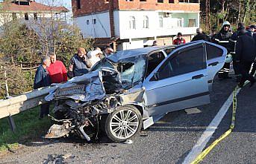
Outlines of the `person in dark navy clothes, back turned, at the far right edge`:
M 249 74 L 249 70 L 252 66 L 252 62 L 255 61 L 256 47 L 255 40 L 250 36 L 246 30 L 241 30 L 241 36 L 238 36 L 236 57 L 234 60 L 240 63 L 240 73 L 242 78 L 240 79 L 239 86 L 243 87 L 244 82 L 248 79 L 251 82 L 251 87 L 255 83 L 255 79 Z

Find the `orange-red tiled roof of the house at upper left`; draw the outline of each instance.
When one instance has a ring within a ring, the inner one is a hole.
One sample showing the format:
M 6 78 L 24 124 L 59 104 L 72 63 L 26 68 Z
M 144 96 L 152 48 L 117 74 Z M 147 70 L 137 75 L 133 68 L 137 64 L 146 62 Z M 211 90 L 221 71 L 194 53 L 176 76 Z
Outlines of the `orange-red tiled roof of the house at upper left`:
M 31 1 L 30 5 L 18 5 L 15 3 L 1 3 L 3 10 L 10 13 L 66 13 L 69 10 L 66 7 L 51 7 L 44 4 Z

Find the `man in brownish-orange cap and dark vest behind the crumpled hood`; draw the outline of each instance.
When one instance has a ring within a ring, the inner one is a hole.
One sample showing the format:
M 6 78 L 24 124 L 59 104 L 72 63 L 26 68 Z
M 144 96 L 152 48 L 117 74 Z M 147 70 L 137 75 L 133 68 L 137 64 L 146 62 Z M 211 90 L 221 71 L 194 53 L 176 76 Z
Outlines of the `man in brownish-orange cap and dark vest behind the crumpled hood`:
M 78 53 L 75 53 L 69 61 L 68 76 L 69 78 L 81 76 L 88 73 L 91 67 L 92 64 L 88 60 L 87 51 L 83 47 L 79 47 Z

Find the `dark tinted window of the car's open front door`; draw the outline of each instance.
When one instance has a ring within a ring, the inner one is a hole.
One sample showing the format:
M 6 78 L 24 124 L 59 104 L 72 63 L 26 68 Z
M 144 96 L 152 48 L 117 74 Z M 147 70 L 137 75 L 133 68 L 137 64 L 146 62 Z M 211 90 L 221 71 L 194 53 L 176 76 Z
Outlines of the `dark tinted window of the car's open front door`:
M 173 53 L 158 70 L 159 79 L 166 79 L 184 73 L 206 68 L 203 46 L 188 47 Z

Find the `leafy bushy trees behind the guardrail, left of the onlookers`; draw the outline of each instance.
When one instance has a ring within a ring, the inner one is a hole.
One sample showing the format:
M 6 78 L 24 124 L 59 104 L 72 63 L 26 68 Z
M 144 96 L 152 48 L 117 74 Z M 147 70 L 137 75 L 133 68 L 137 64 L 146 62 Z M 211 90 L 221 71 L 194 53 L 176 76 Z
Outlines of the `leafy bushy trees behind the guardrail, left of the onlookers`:
M 0 11 L 0 16 L 4 16 L 0 35 L 0 97 L 5 94 L 4 71 L 10 95 L 22 94 L 32 89 L 34 72 L 42 55 L 54 51 L 67 65 L 78 47 L 92 48 L 92 39 L 83 39 L 78 27 L 66 24 L 54 13 L 48 17 L 42 14 L 32 22 L 19 22 L 10 19 L 10 13 Z

